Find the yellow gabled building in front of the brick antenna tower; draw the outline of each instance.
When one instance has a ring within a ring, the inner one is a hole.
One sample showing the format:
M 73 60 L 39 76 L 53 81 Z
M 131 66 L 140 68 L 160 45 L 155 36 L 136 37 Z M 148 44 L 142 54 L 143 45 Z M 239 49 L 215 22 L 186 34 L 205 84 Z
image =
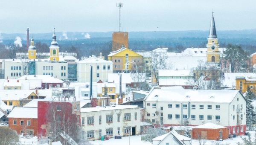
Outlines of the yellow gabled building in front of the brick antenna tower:
M 143 57 L 131 49 L 124 48 L 111 52 L 108 60 L 113 62 L 113 73 L 134 72 L 143 66 Z M 142 68 L 141 70 L 144 70 Z

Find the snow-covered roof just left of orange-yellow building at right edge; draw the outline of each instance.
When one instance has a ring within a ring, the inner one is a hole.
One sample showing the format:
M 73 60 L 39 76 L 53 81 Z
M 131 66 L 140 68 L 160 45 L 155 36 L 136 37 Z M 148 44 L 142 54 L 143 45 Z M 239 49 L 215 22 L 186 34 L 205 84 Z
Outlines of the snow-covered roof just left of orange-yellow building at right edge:
M 224 73 L 224 78 L 221 78 L 221 87 L 236 87 L 236 77 L 247 77 L 253 73 Z

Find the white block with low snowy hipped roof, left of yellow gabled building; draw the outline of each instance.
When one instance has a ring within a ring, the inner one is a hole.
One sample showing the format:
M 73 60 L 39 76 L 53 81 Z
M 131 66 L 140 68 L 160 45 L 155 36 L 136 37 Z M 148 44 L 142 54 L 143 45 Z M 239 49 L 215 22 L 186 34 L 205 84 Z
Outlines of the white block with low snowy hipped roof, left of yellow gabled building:
M 93 82 L 108 81 L 108 73 L 113 73 L 113 62 L 105 61 L 92 55 L 90 58 L 77 63 L 77 80 L 79 82 L 90 81 L 90 66 L 93 66 Z

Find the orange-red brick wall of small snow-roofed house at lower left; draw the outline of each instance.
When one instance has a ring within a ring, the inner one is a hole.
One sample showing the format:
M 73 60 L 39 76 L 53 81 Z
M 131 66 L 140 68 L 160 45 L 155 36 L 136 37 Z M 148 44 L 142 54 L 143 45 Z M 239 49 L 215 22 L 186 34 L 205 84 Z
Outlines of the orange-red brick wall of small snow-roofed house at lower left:
M 16 120 L 16 125 L 13 124 L 13 121 Z M 23 121 L 23 125 L 20 125 L 20 121 Z M 27 121 L 30 121 L 30 125 L 27 125 Z M 33 131 L 33 136 L 38 135 L 38 119 L 31 118 L 9 118 L 9 128 L 17 131 L 18 134 L 21 134 L 21 131 L 27 132 Z

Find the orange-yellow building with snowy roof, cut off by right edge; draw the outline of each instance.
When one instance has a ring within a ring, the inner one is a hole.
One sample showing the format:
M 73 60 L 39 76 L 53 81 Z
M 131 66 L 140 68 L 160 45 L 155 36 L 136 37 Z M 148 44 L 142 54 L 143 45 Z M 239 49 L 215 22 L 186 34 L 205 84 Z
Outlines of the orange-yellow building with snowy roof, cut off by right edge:
M 241 93 L 245 93 L 247 91 L 247 86 L 249 86 L 250 90 L 256 94 L 256 74 L 247 77 L 236 77 L 236 90 L 240 90 Z

